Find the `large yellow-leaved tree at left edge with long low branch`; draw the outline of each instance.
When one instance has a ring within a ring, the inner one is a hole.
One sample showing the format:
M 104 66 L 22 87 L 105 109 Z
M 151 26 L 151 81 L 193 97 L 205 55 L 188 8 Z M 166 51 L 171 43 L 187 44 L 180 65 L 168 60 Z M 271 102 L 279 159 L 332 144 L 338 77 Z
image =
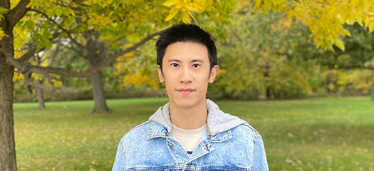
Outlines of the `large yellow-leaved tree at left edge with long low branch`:
M 162 6 L 159 1 L 150 1 L 149 4 L 145 2 L 103 0 L 8 0 L 0 2 L 0 170 L 16 170 L 12 108 L 14 68 L 24 75 L 43 74 L 51 84 L 53 84 L 51 74 L 83 77 L 102 70 L 115 58 L 133 51 L 157 36 L 159 32 L 156 29 L 165 26 L 154 25 L 156 25 L 155 21 L 165 19 L 163 14 L 168 13 L 169 9 Z M 202 12 L 204 8 L 207 9 L 207 6 L 211 5 L 212 1 L 208 1 L 197 12 Z M 209 7 L 209 9 L 214 8 Z M 144 16 L 150 17 L 142 19 Z M 162 24 L 171 23 L 162 22 Z M 34 53 L 51 46 L 51 41 L 53 42 L 56 38 L 65 38 L 69 43 L 76 43 L 79 46 L 81 44 L 78 41 L 83 41 L 83 39 L 76 38 L 81 38 L 83 33 L 91 33 L 91 31 L 100 31 L 101 39 L 107 41 L 109 45 L 115 46 L 118 38 L 128 38 L 133 40 L 133 46 L 110 51 L 110 56 L 100 66 L 90 71 L 75 72 L 63 68 L 32 66 L 27 63 Z M 153 33 L 149 33 L 150 31 Z M 30 37 L 33 43 L 28 44 L 28 51 L 20 58 L 14 58 L 15 50 L 25 48 L 24 43 L 28 42 Z M 30 82 L 28 77 L 24 78 L 30 86 L 48 89 L 46 86 Z

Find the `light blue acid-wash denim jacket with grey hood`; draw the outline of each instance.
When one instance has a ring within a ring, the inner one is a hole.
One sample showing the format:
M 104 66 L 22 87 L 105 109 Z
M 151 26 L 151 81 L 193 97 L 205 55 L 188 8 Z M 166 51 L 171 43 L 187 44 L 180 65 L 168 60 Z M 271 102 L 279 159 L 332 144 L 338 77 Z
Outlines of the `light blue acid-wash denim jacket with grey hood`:
M 264 143 L 246 121 L 223 113 L 207 101 L 207 132 L 191 156 L 170 136 L 170 105 L 120 140 L 113 171 L 122 170 L 269 170 Z

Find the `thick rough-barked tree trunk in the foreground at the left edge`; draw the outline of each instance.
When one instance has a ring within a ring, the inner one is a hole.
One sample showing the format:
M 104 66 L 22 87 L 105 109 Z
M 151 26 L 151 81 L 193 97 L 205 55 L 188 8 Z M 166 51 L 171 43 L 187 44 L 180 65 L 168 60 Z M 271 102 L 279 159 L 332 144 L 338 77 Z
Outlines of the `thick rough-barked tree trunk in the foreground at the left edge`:
M 11 36 L 9 36 L 11 37 Z M 4 53 L 13 53 L 13 40 L 3 37 L 0 41 L 0 170 L 15 171 L 16 150 L 13 120 L 13 72 L 14 67 L 6 62 Z M 11 48 L 4 47 L 9 46 Z M 11 51 L 11 52 L 9 52 Z

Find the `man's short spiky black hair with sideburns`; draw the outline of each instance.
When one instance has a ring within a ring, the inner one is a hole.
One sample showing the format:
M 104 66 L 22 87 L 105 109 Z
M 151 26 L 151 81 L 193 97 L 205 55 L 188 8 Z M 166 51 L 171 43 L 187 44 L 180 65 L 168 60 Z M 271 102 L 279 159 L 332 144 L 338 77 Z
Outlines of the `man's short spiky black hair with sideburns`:
M 167 46 L 177 42 L 194 42 L 207 46 L 210 70 L 217 65 L 217 48 L 212 36 L 194 24 L 177 24 L 162 31 L 160 38 L 157 40 L 157 65 L 160 65 L 161 72 L 162 59 L 165 56 Z

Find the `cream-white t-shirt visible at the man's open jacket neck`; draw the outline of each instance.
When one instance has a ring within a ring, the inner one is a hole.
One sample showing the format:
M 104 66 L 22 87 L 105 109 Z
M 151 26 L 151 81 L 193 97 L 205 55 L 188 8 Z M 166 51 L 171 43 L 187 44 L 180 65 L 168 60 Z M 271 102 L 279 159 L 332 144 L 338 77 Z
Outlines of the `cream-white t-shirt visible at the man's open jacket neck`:
M 175 139 L 180 142 L 180 144 L 185 148 L 188 156 L 190 156 L 196 149 L 197 145 L 199 145 L 200 139 L 205 131 L 207 131 L 207 124 L 196 130 L 185 130 L 172 125 L 172 132 L 170 132 L 170 135 L 174 136 Z

